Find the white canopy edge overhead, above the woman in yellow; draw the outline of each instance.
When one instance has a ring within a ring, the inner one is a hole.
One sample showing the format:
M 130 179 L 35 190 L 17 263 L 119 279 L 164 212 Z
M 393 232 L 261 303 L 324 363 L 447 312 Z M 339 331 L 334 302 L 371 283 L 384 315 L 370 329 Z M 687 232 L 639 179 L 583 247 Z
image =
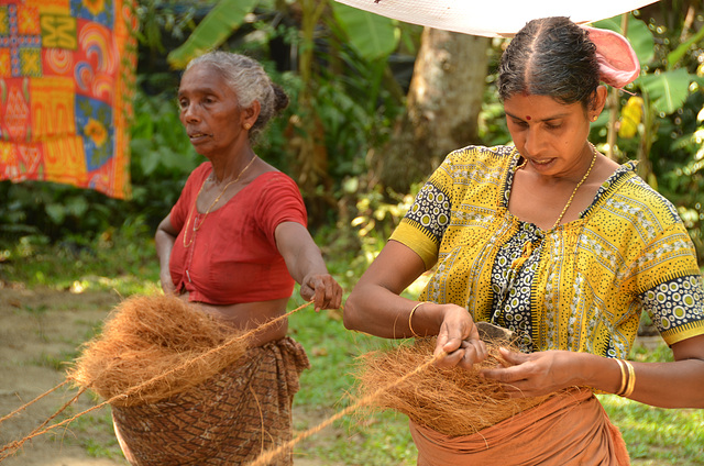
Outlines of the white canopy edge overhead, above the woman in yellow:
M 487 37 L 512 36 L 528 21 L 569 16 L 591 23 L 658 0 L 337 0 L 406 23 Z

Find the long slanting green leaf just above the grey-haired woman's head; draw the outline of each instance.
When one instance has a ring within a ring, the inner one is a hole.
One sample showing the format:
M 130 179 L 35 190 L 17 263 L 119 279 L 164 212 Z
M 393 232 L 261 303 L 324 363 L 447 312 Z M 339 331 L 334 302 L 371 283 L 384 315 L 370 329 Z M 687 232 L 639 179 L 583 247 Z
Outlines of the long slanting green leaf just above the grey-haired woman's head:
M 222 44 L 244 22 L 260 0 L 220 0 L 186 40 L 168 54 L 174 68 L 185 68 L 198 55 Z

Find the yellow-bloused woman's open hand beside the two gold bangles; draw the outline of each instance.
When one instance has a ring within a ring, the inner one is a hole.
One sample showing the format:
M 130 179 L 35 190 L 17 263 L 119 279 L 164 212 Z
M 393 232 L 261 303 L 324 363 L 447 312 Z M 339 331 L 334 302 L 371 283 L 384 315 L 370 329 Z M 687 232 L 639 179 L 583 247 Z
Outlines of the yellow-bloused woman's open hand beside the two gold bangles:
M 565 387 L 582 385 L 579 378 L 579 353 L 544 351 L 516 353 L 499 348 L 509 367 L 482 369 L 483 377 L 498 380 L 512 398 L 539 397 Z

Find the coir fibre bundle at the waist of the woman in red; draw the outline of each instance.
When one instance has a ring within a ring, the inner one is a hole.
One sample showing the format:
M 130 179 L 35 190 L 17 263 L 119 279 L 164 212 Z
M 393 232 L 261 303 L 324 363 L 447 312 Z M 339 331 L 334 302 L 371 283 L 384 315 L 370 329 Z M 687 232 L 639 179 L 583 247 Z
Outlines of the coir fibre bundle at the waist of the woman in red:
M 120 303 L 68 379 L 114 406 L 153 403 L 201 384 L 246 351 L 242 335 L 173 296 Z

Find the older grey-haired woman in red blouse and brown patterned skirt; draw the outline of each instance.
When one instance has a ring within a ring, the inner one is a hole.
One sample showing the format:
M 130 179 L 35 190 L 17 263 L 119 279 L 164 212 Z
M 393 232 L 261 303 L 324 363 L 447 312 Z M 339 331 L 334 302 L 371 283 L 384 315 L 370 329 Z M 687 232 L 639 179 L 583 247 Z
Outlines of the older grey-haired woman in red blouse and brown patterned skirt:
M 253 137 L 288 104 L 260 64 L 215 52 L 188 65 L 180 121 L 208 158 L 156 232 L 162 287 L 233 332 L 280 317 L 294 289 L 316 310 L 342 289 L 306 229 L 296 184 L 258 158 Z M 116 408 L 116 432 L 134 465 L 239 465 L 292 435 L 290 406 L 309 366 L 287 325 L 254 334 L 245 360 L 163 402 Z M 290 455 L 282 464 L 289 464 Z

